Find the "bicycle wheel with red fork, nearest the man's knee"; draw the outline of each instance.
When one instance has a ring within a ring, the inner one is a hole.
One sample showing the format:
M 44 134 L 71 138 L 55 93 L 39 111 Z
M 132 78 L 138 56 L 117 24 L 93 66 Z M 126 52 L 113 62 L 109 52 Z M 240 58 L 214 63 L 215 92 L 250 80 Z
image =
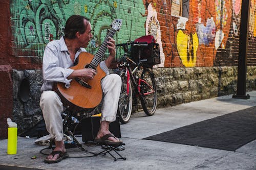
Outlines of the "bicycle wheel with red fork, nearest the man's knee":
M 129 93 L 127 94 L 127 77 L 125 76 L 125 70 L 121 70 L 119 75 L 122 79 L 122 87 L 118 102 L 117 114 L 119 115 L 119 121 L 122 124 L 126 124 L 129 122 L 132 114 L 133 91 L 131 81 L 129 80 Z

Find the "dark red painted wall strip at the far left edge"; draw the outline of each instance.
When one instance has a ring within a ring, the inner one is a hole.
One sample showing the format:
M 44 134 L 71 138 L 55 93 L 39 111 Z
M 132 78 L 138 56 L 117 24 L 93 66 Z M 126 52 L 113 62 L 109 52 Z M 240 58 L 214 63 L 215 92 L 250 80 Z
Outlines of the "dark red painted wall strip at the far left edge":
M 0 3 L 0 139 L 7 137 L 6 118 L 12 117 L 13 87 L 11 79 L 12 67 L 9 62 L 11 47 L 10 2 Z

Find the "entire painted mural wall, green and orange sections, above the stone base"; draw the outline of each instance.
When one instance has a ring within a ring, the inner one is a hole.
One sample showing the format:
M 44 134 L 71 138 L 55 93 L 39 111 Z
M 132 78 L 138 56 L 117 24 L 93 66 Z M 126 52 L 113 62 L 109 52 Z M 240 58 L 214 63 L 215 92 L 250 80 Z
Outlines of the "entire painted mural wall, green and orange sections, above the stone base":
M 255 65 L 256 1 L 250 3 L 248 64 Z M 30 57 L 32 64 L 41 62 L 49 41 L 63 36 L 67 18 L 79 14 L 92 23 L 91 53 L 120 18 L 116 42 L 153 35 L 160 46 L 158 67 L 237 65 L 241 0 L 13 0 L 10 8 L 13 55 Z

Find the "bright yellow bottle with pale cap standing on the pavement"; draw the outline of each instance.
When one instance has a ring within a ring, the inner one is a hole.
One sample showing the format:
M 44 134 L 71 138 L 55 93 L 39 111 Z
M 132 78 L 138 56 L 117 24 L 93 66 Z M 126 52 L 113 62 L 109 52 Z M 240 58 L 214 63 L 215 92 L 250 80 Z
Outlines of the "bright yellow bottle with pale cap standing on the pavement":
M 7 118 L 8 128 L 8 142 L 7 142 L 7 154 L 14 155 L 17 154 L 17 136 L 18 136 L 18 128 L 17 124 L 11 122 L 10 118 Z

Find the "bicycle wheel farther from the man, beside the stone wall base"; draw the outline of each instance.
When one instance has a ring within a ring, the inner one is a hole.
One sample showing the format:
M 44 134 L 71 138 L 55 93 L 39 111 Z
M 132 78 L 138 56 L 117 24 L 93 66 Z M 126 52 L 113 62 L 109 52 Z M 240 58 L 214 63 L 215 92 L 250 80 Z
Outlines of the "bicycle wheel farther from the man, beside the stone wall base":
M 157 87 L 155 78 L 150 70 L 145 69 L 143 70 L 140 79 L 141 106 L 148 116 L 152 116 L 157 108 Z

